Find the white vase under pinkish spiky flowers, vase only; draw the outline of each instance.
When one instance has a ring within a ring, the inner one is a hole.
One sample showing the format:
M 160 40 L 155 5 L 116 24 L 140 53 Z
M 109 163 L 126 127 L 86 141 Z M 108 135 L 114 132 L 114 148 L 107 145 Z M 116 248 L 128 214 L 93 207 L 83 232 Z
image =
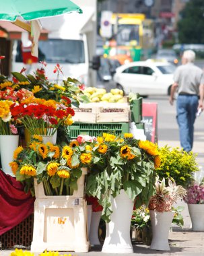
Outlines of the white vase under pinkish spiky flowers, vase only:
M 168 234 L 174 217 L 174 212 L 155 212 L 150 210 L 149 214 L 152 228 L 150 249 L 170 251 Z

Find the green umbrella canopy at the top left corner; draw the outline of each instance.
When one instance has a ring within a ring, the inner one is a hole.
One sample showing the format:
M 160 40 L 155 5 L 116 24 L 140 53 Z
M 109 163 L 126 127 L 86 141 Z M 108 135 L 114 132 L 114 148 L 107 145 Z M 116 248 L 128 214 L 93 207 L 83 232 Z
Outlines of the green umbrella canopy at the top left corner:
M 69 0 L 0 0 L 0 20 L 15 22 L 18 17 L 36 20 L 77 11 L 79 6 Z

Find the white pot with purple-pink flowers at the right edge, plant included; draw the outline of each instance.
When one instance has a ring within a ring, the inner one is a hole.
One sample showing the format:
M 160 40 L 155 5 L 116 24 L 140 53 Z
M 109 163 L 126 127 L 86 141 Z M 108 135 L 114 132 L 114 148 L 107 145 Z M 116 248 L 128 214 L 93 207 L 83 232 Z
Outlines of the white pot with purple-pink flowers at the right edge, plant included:
M 203 183 L 187 188 L 184 201 L 188 203 L 193 231 L 204 231 L 204 185 Z

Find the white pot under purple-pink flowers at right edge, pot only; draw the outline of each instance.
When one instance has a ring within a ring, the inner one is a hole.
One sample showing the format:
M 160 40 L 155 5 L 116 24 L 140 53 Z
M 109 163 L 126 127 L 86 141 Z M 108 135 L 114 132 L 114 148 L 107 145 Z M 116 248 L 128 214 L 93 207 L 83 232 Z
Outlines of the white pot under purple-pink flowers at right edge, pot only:
M 188 204 L 193 231 L 204 231 L 204 204 Z

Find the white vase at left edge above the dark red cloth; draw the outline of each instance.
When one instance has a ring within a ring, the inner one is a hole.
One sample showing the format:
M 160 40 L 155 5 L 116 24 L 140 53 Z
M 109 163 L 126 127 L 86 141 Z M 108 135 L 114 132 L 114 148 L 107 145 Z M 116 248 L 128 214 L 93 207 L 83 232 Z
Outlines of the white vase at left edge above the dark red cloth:
M 19 135 L 0 135 L 1 166 L 3 172 L 13 176 L 9 162 L 13 161 L 13 152 L 18 148 Z

